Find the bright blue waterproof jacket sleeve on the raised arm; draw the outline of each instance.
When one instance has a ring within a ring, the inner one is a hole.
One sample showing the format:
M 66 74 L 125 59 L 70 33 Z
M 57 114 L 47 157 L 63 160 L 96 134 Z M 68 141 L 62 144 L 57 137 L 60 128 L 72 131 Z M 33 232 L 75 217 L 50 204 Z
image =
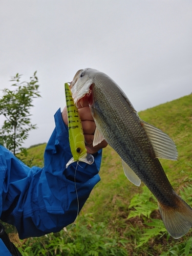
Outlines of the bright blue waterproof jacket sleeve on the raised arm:
M 77 196 L 80 210 L 100 180 L 102 151 L 94 155 L 92 165 L 73 163 L 66 169 L 72 155 L 60 110 L 55 114 L 55 124 L 43 168 L 29 168 L 0 147 L 0 215 L 16 226 L 21 239 L 57 232 L 72 223 L 78 213 Z

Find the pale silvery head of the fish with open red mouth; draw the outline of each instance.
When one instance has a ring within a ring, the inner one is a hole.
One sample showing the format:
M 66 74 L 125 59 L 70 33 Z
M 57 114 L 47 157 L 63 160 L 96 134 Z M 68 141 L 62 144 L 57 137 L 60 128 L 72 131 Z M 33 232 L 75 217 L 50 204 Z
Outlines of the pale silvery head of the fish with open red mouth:
M 95 69 L 80 69 L 75 74 L 73 81 L 70 84 L 70 89 L 74 103 L 77 108 L 83 106 L 85 99 L 91 101 L 92 96 L 92 85 L 94 84 L 94 73 L 97 72 Z

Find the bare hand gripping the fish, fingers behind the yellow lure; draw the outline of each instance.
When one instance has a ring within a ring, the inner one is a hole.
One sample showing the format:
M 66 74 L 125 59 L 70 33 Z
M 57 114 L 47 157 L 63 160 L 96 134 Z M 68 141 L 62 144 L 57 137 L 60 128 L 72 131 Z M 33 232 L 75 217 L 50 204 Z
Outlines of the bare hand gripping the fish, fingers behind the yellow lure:
M 88 102 L 83 101 L 83 106 L 80 106 L 78 111 L 81 118 L 84 139 L 86 140 L 87 153 L 94 154 L 101 148 L 106 147 L 108 143 L 106 143 L 106 141 L 103 140 L 101 141 L 101 143 L 93 147 L 93 139 L 96 125 L 91 115 Z M 68 125 L 67 107 L 65 107 L 62 111 L 62 119 L 66 123 L 66 125 Z

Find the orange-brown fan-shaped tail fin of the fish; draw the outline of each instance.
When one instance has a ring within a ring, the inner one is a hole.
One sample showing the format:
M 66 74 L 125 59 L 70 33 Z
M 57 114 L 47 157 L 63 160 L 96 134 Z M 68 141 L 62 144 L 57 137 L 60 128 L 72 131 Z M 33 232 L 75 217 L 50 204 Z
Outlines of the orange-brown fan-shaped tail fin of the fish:
M 181 238 L 192 226 L 192 209 L 177 194 L 177 205 L 164 206 L 158 202 L 163 223 L 170 236 Z

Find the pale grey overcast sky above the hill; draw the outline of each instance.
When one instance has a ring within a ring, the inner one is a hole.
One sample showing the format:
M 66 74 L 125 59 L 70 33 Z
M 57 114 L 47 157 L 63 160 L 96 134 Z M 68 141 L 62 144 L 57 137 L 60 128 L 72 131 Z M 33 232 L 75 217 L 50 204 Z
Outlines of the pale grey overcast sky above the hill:
M 192 92 L 191 0 L 0 0 L 0 35 L 0 89 L 39 79 L 26 147 L 48 141 L 79 69 L 108 74 L 137 111 Z

